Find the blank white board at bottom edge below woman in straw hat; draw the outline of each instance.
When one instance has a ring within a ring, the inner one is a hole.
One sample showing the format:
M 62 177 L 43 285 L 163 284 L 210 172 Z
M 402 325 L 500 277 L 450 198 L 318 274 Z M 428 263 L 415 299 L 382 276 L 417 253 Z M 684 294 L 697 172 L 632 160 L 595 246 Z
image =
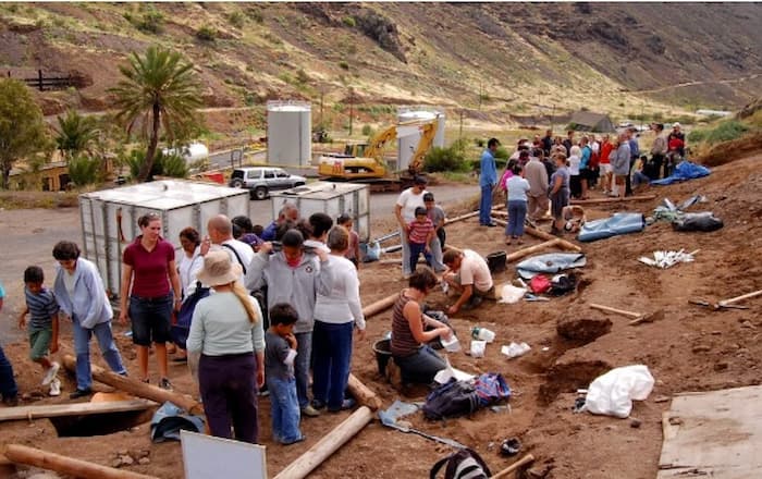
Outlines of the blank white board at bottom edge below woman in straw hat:
M 185 479 L 267 479 L 265 446 L 181 430 Z

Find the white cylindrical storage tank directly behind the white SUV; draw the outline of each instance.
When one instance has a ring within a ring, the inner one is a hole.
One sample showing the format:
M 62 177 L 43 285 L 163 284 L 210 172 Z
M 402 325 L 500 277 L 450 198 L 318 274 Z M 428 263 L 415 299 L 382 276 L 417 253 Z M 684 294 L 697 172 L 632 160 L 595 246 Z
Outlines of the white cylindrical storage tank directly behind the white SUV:
M 312 159 L 312 112 L 306 101 L 268 101 L 267 160 L 281 167 L 306 167 Z

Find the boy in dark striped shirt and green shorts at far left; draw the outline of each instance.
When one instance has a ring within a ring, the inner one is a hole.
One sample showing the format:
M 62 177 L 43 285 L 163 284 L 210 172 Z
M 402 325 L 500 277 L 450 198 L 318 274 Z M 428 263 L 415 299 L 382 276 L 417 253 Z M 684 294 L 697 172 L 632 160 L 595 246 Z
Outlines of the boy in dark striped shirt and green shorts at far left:
M 58 303 L 52 291 L 44 286 L 42 268 L 30 266 L 24 271 L 24 296 L 26 308 L 19 317 L 19 328 L 27 327 L 29 334 L 29 358 L 40 365 L 45 371 L 42 385 L 50 384 L 50 395 L 61 394 L 61 381 L 57 378 L 61 365 L 51 361 L 50 353 L 58 352 Z

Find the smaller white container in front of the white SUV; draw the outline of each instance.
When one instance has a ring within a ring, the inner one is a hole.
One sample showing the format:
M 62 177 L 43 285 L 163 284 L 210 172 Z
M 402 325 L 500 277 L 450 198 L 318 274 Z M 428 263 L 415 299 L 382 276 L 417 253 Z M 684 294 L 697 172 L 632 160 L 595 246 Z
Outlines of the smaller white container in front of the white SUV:
M 357 183 L 315 182 L 304 186 L 273 192 L 272 218 L 285 202 L 292 202 L 299 209 L 300 218 L 309 218 L 312 213 L 325 213 L 336 221 L 342 213 L 354 219 L 355 231 L 361 242 L 370 237 L 370 188 Z

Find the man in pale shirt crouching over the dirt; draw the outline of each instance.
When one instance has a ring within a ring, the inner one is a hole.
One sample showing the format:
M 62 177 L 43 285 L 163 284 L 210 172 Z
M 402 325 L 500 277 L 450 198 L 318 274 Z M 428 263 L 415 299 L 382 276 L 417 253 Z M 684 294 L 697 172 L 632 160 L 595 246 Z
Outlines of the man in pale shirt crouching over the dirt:
M 494 283 L 487 261 L 478 253 L 455 248 L 447 249 L 442 258 L 447 267 L 442 280 L 448 288 L 459 293 L 455 304 L 447 309 L 450 315 L 460 308 L 472 309 L 481 304 L 484 297 L 494 297 Z

